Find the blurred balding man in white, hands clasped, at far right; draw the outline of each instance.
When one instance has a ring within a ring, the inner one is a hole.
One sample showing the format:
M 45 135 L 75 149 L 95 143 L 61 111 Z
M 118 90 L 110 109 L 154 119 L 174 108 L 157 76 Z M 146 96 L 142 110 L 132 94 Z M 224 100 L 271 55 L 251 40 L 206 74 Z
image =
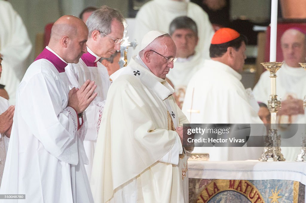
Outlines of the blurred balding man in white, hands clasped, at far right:
M 277 113 L 277 123 L 306 123 L 303 99 L 306 95 L 306 71 L 299 63 L 305 63 L 306 35 L 299 28 L 289 28 L 281 38 L 284 63 L 276 72 L 276 94 L 282 101 L 282 108 Z M 254 87 L 256 100 L 267 104 L 271 94 L 270 72 L 265 71 Z M 297 146 L 299 143 L 297 143 Z M 294 161 L 299 147 L 285 147 L 282 152 L 287 161 Z

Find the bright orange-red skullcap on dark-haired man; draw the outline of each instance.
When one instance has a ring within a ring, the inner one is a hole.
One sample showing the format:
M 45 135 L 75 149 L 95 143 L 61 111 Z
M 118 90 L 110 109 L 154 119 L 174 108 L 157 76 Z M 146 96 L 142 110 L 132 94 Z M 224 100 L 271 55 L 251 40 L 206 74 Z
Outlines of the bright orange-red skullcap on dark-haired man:
M 211 44 L 223 44 L 240 36 L 239 32 L 231 28 L 220 28 L 218 29 L 211 39 Z

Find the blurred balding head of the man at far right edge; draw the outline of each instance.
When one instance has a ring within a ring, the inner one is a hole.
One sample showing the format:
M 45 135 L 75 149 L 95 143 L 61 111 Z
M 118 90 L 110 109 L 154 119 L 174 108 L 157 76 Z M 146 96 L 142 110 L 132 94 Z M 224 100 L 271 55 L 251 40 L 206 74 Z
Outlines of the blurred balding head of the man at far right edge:
M 298 29 L 286 30 L 281 38 L 284 61 L 291 67 L 300 67 L 299 63 L 305 63 L 306 36 Z

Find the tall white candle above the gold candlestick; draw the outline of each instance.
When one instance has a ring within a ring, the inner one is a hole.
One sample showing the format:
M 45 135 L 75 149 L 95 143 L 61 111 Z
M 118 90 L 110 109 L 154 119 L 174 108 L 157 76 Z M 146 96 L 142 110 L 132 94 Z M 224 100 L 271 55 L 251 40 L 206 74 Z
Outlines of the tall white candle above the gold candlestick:
M 276 61 L 277 7 L 278 0 L 271 0 L 270 62 Z

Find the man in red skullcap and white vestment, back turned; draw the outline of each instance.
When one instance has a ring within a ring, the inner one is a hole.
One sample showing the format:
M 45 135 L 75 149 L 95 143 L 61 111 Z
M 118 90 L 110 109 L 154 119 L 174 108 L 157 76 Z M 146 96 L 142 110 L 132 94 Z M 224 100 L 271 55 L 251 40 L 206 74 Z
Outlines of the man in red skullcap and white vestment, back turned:
M 190 79 L 182 111 L 194 124 L 262 124 L 240 82 L 245 55 L 244 36 L 220 28 L 211 40 L 210 57 Z M 195 147 L 211 161 L 258 159 L 261 148 Z

